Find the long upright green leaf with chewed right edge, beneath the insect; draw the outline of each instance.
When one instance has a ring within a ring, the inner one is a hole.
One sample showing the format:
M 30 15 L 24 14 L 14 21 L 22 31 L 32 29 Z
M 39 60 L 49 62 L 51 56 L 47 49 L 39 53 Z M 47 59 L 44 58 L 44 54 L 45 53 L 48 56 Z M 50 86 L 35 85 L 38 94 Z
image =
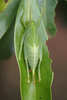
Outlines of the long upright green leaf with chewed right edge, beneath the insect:
M 33 5 L 32 5 L 32 2 L 33 2 Z M 40 99 L 51 100 L 51 83 L 53 79 L 53 73 L 51 71 L 51 67 L 50 67 L 51 60 L 49 58 L 48 49 L 46 46 L 46 40 L 48 40 L 48 37 L 47 37 L 46 31 L 44 28 L 44 23 L 42 20 L 38 28 L 38 31 L 41 37 L 41 42 L 43 45 L 43 57 L 42 57 L 42 63 L 41 63 L 41 82 L 38 82 L 38 69 L 36 68 L 35 84 L 33 82 L 32 72 L 30 72 L 31 82 L 30 84 L 27 84 L 27 71 L 26 71 L 26 66 L 25 66 L 23 50 L 21 54 L 21 61 L 18 60 L 20 42 L 25 31 L 24 27 L 22 26 L 20 22 L 20 18 L 23 14 L 23 6 L 25 6 L 24 21 L 29 20 L 31 6 L 33 9 L 32 11 L 33 20 L 37 22 L 40 17 L 40 12 L 35 0 L 21 0 L 18 13 L 17 13 L 15 33 L 14 33 L 15 53 L 16 53 L 17 62 L 20 68 L 21 97 L 22 97 L 22 100 L 40 100 Z

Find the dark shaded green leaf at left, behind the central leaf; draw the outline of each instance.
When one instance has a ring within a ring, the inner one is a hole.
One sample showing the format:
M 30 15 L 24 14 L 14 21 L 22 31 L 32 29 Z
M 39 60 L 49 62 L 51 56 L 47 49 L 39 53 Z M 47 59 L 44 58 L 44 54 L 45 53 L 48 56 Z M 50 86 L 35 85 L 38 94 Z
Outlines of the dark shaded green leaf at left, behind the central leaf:
M 14 25 L 15 19 L 12 21 L 6 34 L 0 39 L 0 61 L 7 59 L 14 54 Z

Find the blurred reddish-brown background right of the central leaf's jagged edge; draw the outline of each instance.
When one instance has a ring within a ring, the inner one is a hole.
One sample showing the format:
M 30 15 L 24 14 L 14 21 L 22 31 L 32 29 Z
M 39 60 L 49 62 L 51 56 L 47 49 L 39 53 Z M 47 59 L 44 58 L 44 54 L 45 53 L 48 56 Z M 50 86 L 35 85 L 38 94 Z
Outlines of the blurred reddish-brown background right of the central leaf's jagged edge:
M 54 79 L 52 100 L 67 100 L 67 2 L 60 0 L 56 7 L 56 35 L 47 41 Z

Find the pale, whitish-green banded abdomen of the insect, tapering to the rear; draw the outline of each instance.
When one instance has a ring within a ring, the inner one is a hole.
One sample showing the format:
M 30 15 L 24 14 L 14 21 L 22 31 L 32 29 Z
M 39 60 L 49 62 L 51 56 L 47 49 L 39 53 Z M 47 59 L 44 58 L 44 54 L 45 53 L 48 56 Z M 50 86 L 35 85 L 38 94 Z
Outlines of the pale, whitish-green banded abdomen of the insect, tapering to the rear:
M 25 52 L 31 69 L 35 69 L 37 66 L 39 59 L 39 50 L 39 45 L 36 47 L 34 44 L 34 46 L 32 47 L 27 42 L 25 43 Z

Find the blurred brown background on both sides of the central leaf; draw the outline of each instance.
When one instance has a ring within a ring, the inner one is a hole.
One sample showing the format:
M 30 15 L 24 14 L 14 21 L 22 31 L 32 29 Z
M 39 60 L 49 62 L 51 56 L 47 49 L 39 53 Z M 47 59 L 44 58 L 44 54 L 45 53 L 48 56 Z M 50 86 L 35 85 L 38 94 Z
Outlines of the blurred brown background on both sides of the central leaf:
M 67 100 L 67 2 L 58 1 L 55 10 L 57 33 L 47 41 L 47 46 L 53 61 L 52 100 Z M 21 100 L 20 74 L 15 55 L 0 62 L 0 100 Z

